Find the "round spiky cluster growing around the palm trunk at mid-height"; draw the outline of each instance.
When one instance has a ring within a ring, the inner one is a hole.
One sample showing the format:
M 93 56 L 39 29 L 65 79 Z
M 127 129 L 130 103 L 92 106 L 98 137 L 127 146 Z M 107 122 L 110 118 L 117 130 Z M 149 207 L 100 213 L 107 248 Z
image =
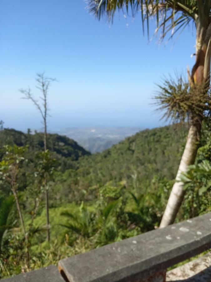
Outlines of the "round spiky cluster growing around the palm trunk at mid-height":
M 158 110 L 165 110 L 162 118 L 175 122 L 205 118 L 211 112 L 210 88 L 204 85 L 190 86 L 182 76 L 164 78 L 162 85 L 157 85 L 154 97 Z

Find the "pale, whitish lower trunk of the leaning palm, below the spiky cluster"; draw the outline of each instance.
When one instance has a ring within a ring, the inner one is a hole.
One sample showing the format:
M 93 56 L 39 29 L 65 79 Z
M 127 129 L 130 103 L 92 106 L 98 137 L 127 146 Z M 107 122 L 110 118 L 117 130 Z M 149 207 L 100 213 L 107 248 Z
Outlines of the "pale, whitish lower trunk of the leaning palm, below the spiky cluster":
M 188 165 L 194 164 L 198 149 L 198 138 L 200 135 L 200 130 L 201 121 L 192 124 L 189 129 L 187 142 L 176 176 L 176 182 L 174 183 L 171 194 L 168 198 L 168 203 L 163 214 L 162 221 L 160 223 L 160 228 L 165 227 L 174 222 L 179 207 L 183 201 L 185 191 L 183 189 L 184 183 L 180 181 L 180 177 L 181 174 L 187 172 Z

